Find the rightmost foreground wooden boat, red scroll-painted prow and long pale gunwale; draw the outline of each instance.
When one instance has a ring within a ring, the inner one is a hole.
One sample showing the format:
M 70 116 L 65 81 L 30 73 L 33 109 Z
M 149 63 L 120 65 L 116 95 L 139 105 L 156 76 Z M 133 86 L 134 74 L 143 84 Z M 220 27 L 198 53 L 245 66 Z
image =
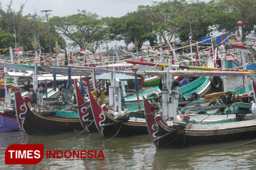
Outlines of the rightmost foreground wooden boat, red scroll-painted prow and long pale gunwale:
M 227 110 L 236 117 L 211 122 L 190 121 L 188 116 L 176 115 L 175 108 L 171 108 L 172 119 L 164 120 L 160 113 L 152 112 L 145 98 L 143 103 L 148 133 L 157 148 L 256 137 L 255 103 L 234 103 Z M 175 102 L 171 106 L 175 106 Z

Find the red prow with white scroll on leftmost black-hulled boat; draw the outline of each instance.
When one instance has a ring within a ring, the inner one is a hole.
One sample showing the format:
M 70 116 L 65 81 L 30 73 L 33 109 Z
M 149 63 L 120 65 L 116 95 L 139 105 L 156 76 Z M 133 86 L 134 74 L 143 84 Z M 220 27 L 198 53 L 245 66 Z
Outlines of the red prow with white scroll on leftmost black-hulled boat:
M 22 128 L 22 130 L 25 132 L 23 124 L 24 124 L 24 120 L 25 120 L 25 114 L 27 113 L 28 108 L 27 108 L 20 92 L 16 92 L 14 94 L 14 100 L 15 100 L 15 110 L 16 110 L 16 117 L 17 117 L 18 123 L 19 123 L 20 127 Z

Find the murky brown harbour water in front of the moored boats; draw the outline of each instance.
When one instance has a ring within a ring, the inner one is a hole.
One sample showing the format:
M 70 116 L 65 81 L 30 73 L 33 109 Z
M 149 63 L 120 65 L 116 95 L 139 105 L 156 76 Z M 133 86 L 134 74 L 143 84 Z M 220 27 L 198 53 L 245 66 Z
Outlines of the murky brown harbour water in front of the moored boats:
M 232 77 L 228 82 L 231 90 L 241 86 L 242 79 Z M 252 140 L 156 149 L 149 135 L 107 140 L 99 133 L 79 133 L 37 136 L 20 132 L 0 133 L 0 169 L 256 169 L 256 141 L 250 142 Z M 105 159 L 44 158 L 37 165 L 4 165 L 5 150 L 12 144 L 44 144 L 44 150 L 102 150 Z

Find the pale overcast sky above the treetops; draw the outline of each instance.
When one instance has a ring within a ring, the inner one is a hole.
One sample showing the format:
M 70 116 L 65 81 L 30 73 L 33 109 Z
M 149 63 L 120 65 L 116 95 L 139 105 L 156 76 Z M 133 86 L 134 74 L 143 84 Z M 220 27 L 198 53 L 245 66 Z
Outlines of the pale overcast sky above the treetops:
M 77 10 L 87 10 L 97 13 L 102 17 L 112 16 L 120 17 L 127 12 L 135 11 L 138 5 L 152 4 L 153 0 L 13 0 L 12 8 L 19 10 L 21 3 L 25 3 L 24 15 L 33 14 L 33 5 L 38 15 L 41 10 L 53 10 L 52 16 L 65 16 L 76 14 Z M 154 0 L 162 1 L 162 0 Z M 166 0 L 163 0 L 166 1 Z M 6 9 L 6 5 L 10 0 L 0 0 L 2 8 Z

